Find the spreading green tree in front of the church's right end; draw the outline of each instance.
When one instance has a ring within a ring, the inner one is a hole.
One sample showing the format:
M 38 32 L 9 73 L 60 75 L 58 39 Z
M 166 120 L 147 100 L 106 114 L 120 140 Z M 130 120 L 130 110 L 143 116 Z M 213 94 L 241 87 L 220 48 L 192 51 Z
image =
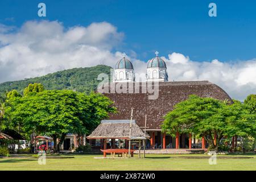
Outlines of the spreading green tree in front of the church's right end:
M 228 104 L 192 95 L 175 105 L 174 110 L 164 117 L 162 129 L 172 135 L 177 131 L 199 135 L 207 140 L 210 149 L 217 151 L 224 136 L 245 135 L 253 130 L 248 114 L 241 102 Z

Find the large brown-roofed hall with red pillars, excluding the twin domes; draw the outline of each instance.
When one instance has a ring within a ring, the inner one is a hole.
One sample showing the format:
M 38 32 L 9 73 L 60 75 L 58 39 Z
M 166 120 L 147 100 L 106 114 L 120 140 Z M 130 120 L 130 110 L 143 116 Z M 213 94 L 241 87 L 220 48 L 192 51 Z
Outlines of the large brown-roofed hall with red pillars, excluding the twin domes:
M 232 99 L 223 89 L 209 81 L 158 82 L 158 88 L 155 90 L 156 93 L 153 94 L 148 92 L 147 84 L 148 82 L 112 82 L 105 84 L 102 90 L 105 88 L 104 95 L 114 102 L 114 106 L 118 110 L 118 113 L 110 114 L 109 119 L 129 119 L 131 107 L 134 107 L 133 118 L 136 119 L 139 127 L 143 127 L 145 115 L 147 115 L 146 130 L 151 136 L 151 146 L 155 146 L 156 143 L 156 147 L 160 145 L 165 148 L 168 144 L 170 148 L 177 148 L 177 143 L 179 143 L 179 148 L 188 148 L 188 141 L 191 141 L 188 134 L 177 134 L 175 142 L 175 138 L 171 136 L 166 137 L 165 134 L 161 133 L 160 125 L 164 120 L 164 115 L 173 110 L 177 103 L 187 100 L 190 95 L 195 94 L 199 97 L 212 97 L 232 102 Z M 154 84 L 152 85 L 152 88 L 154 88 Z M 120 92 L 120 89 L 119 92 L 116 92 L 113 87 L 115 89 L 121 88 L 122 92 Z M 154 94 L 157 97 L 152 100 L 149 99 L 148 96 Z M 202 143 L 204 145 L 204 142 Z M 191 144 L 189 147 L 191 147 Z

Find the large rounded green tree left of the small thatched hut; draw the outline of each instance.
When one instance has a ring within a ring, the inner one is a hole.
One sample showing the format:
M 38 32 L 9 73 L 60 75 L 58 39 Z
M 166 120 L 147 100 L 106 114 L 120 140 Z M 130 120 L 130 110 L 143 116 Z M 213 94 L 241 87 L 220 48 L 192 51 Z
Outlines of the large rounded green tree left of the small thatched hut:
M 51 135 L 55 151 L 59 151 L 68 133 L 88 134 L 100 119 L 115 111 L 111 104 L 102 94 L 86 96 L 72 90 L 44 90 L 20 98 L 12 116 L 13 121 L 22 121 L 27 133 Z

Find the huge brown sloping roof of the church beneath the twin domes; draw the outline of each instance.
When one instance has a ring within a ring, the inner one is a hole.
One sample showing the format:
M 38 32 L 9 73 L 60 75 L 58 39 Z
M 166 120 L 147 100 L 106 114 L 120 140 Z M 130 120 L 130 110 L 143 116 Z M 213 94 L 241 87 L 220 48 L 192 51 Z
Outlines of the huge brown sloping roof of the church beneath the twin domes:
M 177 103 L 187 100 L 191 94 L 232 102 L 223 89 L 209 81 L 159 82 L 159 96 L 155 100 L 148 100 L 151 93 L 142 92 L 144 83 L 135 82 L 134 84 L 140 85 L 139 93 L 128 93 L 129 85 L 126 86 L 127 93 L 113 93 L 110 89 L 109 93 L 104 93 L 114 102 L 118 110 L 118 113 L 110 114 L 109 119 L 129 119 L 131 107 L 134 107 L 133 118 L 136 119 L 138 126 L 144 126 L 145 114 L 147 114 L 147 130 L 160 130 L 164 115 L 173 110 Z M 108 87 L 109 85 L 106 84 Z M 135 90 L 134 85 L 132 89 Z

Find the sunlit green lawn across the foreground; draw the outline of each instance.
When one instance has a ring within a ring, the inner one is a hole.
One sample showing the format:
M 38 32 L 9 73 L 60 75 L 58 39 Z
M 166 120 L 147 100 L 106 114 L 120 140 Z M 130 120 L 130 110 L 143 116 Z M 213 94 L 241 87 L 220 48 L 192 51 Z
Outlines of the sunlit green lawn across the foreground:
M 61 155 L 64 156 L 64 155 Z M 208 159 L 185 159 L 180 156 L 207 155 L 146 155 L 139 159 L 94 159 L 102 155 L 67 155 L 72 159 L 46 159 L 46 165 L 39 165 L 31 156 L 0 159 L 0 170 L 256 170 L 256 155 L 223 155 L 230 157 L 252 156 L 252 159 L 218 159 L 210 165 Z

